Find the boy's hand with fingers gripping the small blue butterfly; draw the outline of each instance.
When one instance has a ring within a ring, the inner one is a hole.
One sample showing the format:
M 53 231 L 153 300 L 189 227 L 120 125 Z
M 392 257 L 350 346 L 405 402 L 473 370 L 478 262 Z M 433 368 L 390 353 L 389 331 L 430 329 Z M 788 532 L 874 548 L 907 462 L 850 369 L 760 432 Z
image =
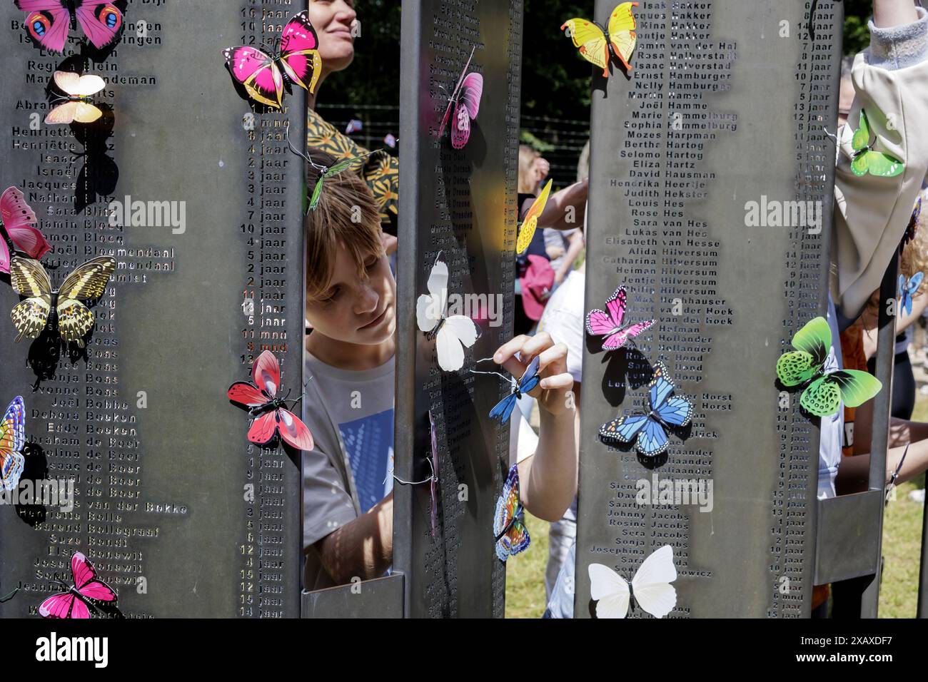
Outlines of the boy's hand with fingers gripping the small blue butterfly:
M 522 360 L 516 357 L 516 353 L 522 356 Z M 493 361 L 502 365 L 515 380 L 520 380 L 536 355 L 541 381 L 529 395 L 537 398 L 538 405 L 550 414 L 564 414 L 568 411 L 567 393 L 574 388 L 574 377 L 567 372 L 565 344 L 552 341 L 547 331 L 540 331 L 535 336 L 522 334 L 496 349 Z M 525 417 L 528 418 L 528 415 Z

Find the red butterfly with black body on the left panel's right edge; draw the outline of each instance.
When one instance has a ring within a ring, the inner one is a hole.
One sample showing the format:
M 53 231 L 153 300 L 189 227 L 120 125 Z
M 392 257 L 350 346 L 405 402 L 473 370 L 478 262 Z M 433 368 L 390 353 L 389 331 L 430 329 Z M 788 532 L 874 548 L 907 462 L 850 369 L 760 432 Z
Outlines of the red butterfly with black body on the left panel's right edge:
M 284 441 L 297 450 L 313 449 L 313 434 L 303 421 L 286 409 L 286 401 L 277 398 L 280 386 L 280 364 L 270 351 L 258 355 L 251 366 L 251 381 L 236 381 L 229 386 L 228 397 L 233 403 L 245 405 L 254 420 L 248 430 L 251 443 L 266 445 L 279 433 Z

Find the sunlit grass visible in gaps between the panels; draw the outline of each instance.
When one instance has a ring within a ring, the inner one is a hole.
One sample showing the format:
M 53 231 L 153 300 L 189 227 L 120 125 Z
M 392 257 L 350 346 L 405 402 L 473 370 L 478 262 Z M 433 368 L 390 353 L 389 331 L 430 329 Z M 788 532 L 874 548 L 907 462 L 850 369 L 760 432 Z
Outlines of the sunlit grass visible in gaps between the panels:
M 928 421 L 928 399 L 919 396 L 912 415 Z M 536 426 L 536 425 L 535 425 Z M 886 507 L 883 519 L 883 583 L 880 587 L 881 618 L 914 618 L 919 596 L 919 562 L 922 546 L 923 505 L 909 499 L 909 492 L 923 488 L 924 474 L 903 483 Z M 540 618 L 545 612 L 545 565 L 548 562 L 548 523 L 526 514 L 532 544 L 509 559 L 506 579 L 506 617 Z

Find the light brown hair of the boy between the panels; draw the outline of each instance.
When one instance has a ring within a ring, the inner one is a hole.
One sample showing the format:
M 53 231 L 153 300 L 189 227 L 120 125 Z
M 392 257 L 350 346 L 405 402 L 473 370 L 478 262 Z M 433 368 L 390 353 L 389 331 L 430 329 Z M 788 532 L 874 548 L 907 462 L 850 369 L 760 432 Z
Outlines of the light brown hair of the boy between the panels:
M 338 162 L 329 154 L 310 149 L 314 163 L 331 168 Z M 316 187 L 319 172 L 309 166 L 306 187 Z M 358 277 L 365 277 L 365 261 L 383 254 L 380 242 L 380 209 L 367 183 L 354 169 L 327 177 L 316 210 L 306 214 L 306 298 L 317 300 L 329 288 L 339 244 L 354 259 Z

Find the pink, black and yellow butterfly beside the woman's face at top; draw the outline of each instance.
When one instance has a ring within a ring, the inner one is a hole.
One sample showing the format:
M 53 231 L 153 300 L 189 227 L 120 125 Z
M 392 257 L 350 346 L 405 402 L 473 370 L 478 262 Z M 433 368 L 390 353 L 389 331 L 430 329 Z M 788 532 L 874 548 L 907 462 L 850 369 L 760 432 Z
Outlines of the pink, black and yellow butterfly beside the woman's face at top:
M 316 91 L 322 70 L 319 39 L 309 21 L 308 10 L 295 14 L 280 32 L 280 46 L 275 57 L 256 47 L 238 45 L 223 50 L 226 67 L 251 99 L 280 109 L 284 88 L 295 83 L 309 92 Z

